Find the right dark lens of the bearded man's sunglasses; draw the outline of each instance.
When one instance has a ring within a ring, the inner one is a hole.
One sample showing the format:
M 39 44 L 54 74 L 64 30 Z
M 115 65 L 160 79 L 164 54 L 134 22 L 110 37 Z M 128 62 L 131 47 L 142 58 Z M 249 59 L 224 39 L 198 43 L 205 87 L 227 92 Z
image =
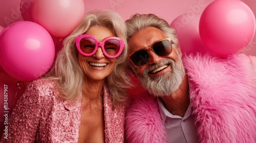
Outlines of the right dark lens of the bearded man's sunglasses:
M 172 44 L 169 40 L 156 42 L 152 46 L 153 51 L 159 56 L 167 56 L 172 53 Z

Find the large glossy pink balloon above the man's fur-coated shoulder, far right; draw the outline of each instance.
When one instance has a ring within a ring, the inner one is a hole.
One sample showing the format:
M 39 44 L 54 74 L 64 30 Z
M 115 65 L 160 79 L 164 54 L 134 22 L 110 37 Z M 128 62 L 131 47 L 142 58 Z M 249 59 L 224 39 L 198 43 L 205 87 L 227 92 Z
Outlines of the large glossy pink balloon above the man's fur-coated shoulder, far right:
M 255 33 L 255 17 L 239 0 L 216 0 L 203 11 L 199 33 L 204 44 L 217 56 L 241 52 Z

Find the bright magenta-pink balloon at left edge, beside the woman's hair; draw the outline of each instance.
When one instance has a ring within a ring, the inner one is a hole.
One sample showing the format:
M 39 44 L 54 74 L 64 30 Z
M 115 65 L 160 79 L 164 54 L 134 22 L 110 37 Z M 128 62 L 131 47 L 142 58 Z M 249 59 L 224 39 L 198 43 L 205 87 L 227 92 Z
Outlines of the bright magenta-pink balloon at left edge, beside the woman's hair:
M 15 22 L 0 35 L 0 65 L 19 81 L 32 81 L 44 75 L 54 54 L 51 35 L 35 22 Z

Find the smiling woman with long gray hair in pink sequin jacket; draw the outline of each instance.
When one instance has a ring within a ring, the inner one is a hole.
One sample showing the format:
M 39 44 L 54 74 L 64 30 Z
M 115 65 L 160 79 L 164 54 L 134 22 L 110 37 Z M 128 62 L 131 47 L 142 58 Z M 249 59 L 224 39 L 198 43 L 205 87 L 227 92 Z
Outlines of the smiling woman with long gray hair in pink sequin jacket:
M 1 142 L 124 142 L 125 36 L 117 13 L 86 14 L 19 99 Z

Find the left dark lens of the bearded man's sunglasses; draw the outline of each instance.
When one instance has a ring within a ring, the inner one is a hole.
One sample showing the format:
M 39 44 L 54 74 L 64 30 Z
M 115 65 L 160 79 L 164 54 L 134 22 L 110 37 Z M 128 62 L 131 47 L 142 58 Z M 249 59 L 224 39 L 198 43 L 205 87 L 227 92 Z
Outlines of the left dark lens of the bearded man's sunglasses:
M 140 50 L 130 57 L 131 61 L 133 62 L 134 65 L 140 67 L 145 65 L 148 62 L 148 53 L 145 50 Z

